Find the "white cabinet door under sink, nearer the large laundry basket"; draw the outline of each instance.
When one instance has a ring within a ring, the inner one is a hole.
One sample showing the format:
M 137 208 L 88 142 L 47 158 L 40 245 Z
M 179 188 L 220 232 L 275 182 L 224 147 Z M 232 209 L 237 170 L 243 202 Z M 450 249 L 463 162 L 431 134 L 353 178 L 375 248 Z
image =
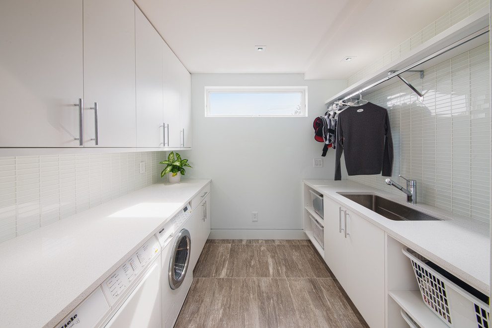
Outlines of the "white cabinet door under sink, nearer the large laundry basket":
M 343 288 L 370 327 L 384 327 L 384 232 L 351 211 L 347 229 Z

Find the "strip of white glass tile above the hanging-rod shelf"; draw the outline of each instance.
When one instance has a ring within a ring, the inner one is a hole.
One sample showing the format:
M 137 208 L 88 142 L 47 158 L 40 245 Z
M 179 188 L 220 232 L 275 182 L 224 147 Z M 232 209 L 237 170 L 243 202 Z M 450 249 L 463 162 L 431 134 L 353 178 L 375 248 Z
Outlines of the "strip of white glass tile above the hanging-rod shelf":
M 410 50 L 415 49 L 422 43 L 430 40 L 437 34 L 445 31 L 449 27 L 462 21 L 471 14 L 480 10 L 489 10 L 489 6 L 490 0 L 463 1 L 451 11 L 442 15 L 441 17 L 424 27 L 422 30 L 412 35 L 410 38 L 408 38 L 392 50 L 388 51 L 379 60 L 352 75 L 350 78 L 348 78 L 347 85 L 352 85 L 371 75 L 372 73 L 382 69 L 383 67 L 389 65 L 391 62 L 410 52 Z

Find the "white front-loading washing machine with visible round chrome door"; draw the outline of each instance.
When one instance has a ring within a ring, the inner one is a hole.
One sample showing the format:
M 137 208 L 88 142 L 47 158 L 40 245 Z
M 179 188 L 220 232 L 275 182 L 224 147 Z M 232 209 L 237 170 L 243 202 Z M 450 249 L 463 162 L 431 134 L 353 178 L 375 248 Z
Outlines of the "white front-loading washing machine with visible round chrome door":
M 193 227 L 191 207 L 186 204 L 157 233 L 162 247 L 163 327 L 172 328 L 193 280 L 190 269 Z

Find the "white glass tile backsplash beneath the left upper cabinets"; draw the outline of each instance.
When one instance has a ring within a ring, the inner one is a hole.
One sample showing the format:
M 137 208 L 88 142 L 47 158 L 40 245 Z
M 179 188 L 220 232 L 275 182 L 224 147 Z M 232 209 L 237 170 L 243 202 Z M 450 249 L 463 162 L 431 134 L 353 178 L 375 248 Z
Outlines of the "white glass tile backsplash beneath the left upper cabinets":
M 165 152 L 0 158 L 0 242 L 156 183 L 164 159 Z

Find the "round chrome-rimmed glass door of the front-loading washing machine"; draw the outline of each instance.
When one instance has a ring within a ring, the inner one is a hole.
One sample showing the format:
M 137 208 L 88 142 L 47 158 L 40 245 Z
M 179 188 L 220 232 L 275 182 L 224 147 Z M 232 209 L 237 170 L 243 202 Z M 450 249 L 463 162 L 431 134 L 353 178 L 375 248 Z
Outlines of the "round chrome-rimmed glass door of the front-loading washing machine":
M 176 289 L 183 283 L 190 261 L 190 232 L 182 229 L 176 236 L 169 259 L 169 286 Z

